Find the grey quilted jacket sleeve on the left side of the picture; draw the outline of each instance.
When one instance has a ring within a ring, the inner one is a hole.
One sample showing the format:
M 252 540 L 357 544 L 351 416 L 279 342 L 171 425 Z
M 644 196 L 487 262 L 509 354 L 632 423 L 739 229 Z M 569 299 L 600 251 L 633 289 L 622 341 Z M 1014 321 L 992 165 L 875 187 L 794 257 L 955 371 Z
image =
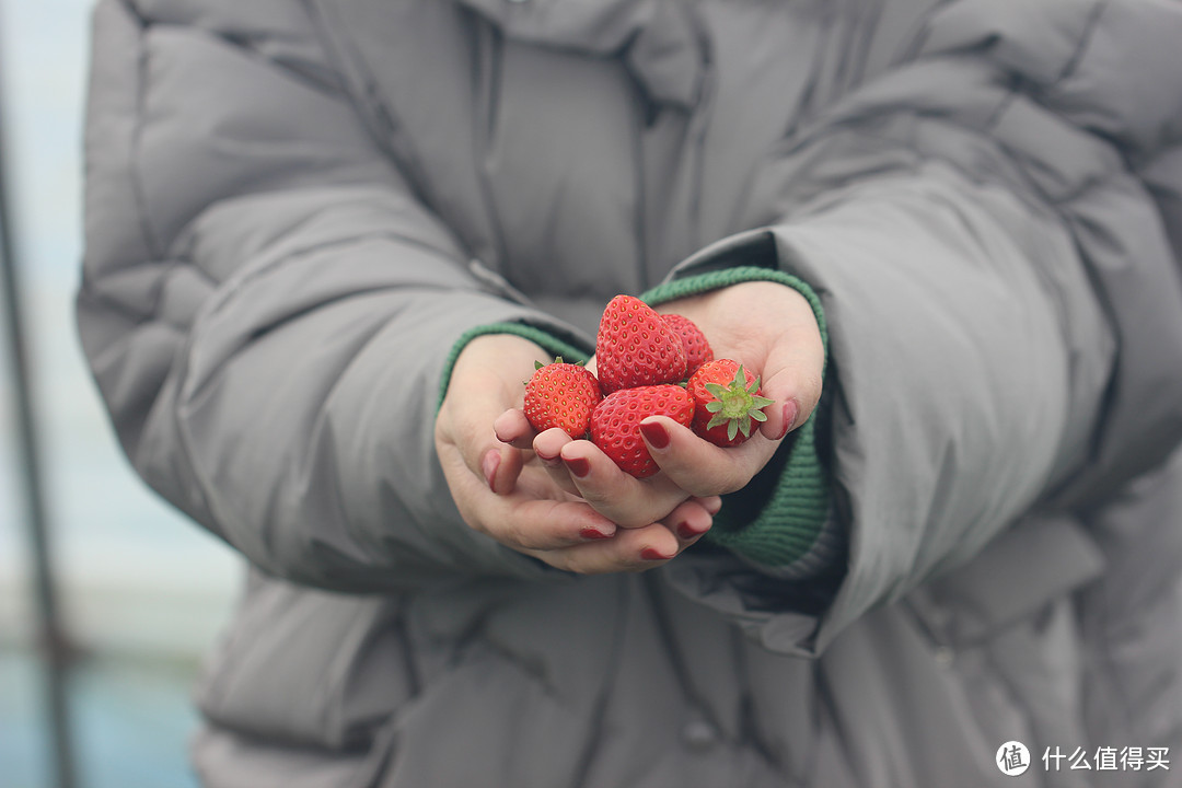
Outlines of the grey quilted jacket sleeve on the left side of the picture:
M 301 4 L 240 4 L 219 28 L 152 8 L 96 9 L 78 295 L 135 468 L 300 582 L 541 574 L 462 523 L 431 432 L 466 331 L 565 328 L 473 275 L 350 110 Z

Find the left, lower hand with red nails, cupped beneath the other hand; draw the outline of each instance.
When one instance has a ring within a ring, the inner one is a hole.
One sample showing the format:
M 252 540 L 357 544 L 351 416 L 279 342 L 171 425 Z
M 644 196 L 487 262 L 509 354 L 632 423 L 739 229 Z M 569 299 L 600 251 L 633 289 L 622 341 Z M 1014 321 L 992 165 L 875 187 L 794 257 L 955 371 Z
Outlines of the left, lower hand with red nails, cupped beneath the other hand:
M 520 553 L 580 573 L 647 569 L 706 533 L 721 506 L 717 497 L 670 499 L 663 512 L 654 508 L 649 520 L 631 519 L 623 528 L 569 482 L 559 483 L 533 451 L 498 441 L 493 423 L 508 409 L 521 412 L 522 382 L 535 360 L 548 360 L 538 345 L 489 334 L 468 343 L 453 366 L 435 422 L 435 450 L 465 522 Z

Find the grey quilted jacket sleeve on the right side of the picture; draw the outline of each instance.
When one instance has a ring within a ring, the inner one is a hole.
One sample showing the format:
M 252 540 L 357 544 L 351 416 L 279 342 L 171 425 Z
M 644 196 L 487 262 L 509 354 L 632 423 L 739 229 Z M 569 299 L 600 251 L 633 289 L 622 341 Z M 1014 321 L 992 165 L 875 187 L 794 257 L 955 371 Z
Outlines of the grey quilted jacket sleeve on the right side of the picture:
M 785 651 L 1182 438 L 1182 6 L 961 0 L 924 31 L 766 162 L 764 229 L 677 272 L 777 267 L 829 321 L 836 597 L 767 612 L 800 605 L 726 564 L 669 568 Z

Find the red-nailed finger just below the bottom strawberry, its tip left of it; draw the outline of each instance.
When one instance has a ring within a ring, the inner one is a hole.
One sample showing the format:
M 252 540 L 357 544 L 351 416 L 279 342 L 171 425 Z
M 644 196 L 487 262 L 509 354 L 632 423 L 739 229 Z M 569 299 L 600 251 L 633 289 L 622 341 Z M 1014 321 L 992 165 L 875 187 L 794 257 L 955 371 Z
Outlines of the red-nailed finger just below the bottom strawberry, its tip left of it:
M 571 441 L 560 456 L 579 495 L 624 528 L 657 522 L 690 495 L 661 474 L 636 478 L 624 473 L 590 441 Z

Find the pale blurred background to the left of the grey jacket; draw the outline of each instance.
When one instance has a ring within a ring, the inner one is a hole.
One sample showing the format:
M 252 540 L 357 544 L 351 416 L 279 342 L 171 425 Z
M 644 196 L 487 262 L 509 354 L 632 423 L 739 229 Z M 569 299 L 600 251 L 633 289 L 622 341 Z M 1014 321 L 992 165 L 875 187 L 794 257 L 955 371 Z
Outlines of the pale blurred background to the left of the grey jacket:
M 9 220 L 0 232 L 17 263 L 47 546 L 74 655 L 61 683 L 66 741 L 79 788 L 195 788 L 186 753 L 196 725 L 190 686 L 228 617 L 240 568 L 132 474 L 74 336 L 90 7 L 0 0 L 0 182 Z M 53 788 L 60 769 L 11 339 L 5 330 L 0 788 Z

